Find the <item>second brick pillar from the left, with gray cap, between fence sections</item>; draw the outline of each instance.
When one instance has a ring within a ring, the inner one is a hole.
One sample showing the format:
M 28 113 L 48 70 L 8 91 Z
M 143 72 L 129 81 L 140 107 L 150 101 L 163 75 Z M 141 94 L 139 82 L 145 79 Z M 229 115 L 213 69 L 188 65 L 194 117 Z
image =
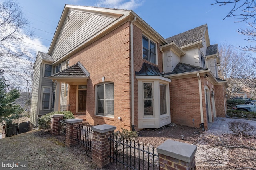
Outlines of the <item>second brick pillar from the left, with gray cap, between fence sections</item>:
M 66 123 L 66 141 L 65 145 L 71 147 L 77 143 L 77 125 L 82 124 L 83 119 L 67 119 L 65 120 Z

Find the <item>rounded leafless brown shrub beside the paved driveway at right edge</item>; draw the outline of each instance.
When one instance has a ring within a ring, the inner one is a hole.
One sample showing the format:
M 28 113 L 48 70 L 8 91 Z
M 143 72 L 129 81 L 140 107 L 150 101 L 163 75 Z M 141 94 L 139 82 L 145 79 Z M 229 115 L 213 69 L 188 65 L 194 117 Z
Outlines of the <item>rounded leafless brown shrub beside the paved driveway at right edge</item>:
M 230 131 L 237 135 L 241 135 L 244 137 L 252 136 L 255 134 L 255 126 L 251 125 L 247 122 L 241 121 L 230 121 L 228 122 L 228 128 Z

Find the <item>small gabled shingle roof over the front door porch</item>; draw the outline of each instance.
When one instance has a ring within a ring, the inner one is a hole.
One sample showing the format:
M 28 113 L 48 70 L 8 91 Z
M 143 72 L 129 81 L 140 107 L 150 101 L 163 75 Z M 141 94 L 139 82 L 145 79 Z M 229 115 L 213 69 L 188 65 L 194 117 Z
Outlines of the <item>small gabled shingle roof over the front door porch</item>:
M 90 73 L 84 68 L 84 66 L 78 62 L 69 68 L 66 68 L 65 70 L 58 72 L 54 75 L 51 75 L 50 77 L 63 77 L 63 78 L 71 78 L 71 77 L 77 77 L 77 78 L 86 78 L 89 77 Z

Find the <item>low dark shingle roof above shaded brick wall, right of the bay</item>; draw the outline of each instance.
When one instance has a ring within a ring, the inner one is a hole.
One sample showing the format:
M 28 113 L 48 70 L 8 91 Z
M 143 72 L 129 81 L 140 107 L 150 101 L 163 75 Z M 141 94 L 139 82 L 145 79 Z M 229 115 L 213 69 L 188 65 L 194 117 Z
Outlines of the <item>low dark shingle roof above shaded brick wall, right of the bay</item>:
M 208 70 L 208 68 L 202 68 L 198 66 L 193 66 L 186 63 L 178 63 L 174 70 L 170 73 L 166 73 L 165 75 L 169 74 L 179 74 L 179 73 L 185 73 L 185 72 L 193 72 L 193 71 L 200 71 L 200 70 Z

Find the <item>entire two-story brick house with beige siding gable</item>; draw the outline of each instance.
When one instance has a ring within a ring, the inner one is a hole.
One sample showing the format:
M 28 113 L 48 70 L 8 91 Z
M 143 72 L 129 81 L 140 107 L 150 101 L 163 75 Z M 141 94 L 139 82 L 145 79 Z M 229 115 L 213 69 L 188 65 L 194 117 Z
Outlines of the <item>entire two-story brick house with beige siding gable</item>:
M 207 25 L 164 39 L 132 10 L 66 5 L 34 64 L 31 122 L 70 110 L 117 129 L 207 128 L 226 115 L 219 64 Z

